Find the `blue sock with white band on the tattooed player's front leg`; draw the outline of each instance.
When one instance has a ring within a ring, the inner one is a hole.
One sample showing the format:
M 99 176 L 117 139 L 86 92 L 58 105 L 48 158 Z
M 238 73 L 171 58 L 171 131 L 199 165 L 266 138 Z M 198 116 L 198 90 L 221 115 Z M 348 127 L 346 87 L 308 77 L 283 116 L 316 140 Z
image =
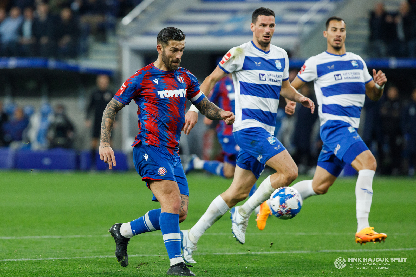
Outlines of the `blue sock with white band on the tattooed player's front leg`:
M 161 213 L 159 217 L 163 242 L 168 251 L 171 266 L 183 262 L 181 255 L 181 233 L 179 230 L 179 215 L 176 213 Z

